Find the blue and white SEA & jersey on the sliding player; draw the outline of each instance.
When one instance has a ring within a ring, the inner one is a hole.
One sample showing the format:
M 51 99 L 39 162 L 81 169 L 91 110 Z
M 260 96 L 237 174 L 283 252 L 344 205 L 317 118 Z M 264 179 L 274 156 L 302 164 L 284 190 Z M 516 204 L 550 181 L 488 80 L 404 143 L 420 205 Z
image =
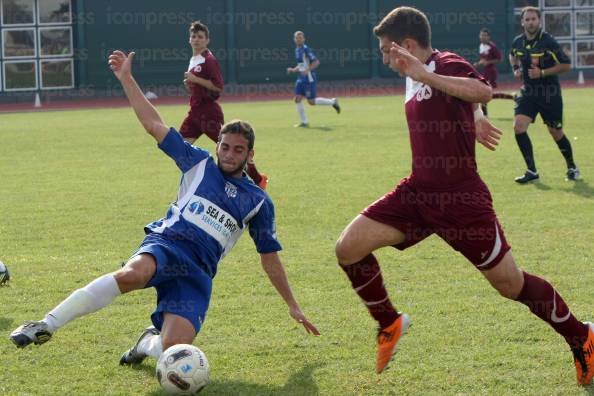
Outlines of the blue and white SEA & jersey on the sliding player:
M 183 175 L 176 201 L 164 218 L 145 227 L 147 233 L 181 244 L 211 277 L 246 228 L 259 253 L 281 250 L 274 205 L 248 177 L 226 176 L 208 151 L 186 143 L 174 128 L 159 148 Z

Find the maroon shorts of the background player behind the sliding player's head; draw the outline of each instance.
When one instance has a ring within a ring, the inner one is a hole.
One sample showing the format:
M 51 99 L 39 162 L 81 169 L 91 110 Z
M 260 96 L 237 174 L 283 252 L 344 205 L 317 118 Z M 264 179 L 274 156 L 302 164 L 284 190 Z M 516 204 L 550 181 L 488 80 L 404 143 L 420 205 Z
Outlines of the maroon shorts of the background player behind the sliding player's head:
M 184 138 L 198 139 L 205 133 L 212 141 L 219 140 L 219 132 L 224 124 L 223 111 L 218 103 L 190 109 L 179 132 Z

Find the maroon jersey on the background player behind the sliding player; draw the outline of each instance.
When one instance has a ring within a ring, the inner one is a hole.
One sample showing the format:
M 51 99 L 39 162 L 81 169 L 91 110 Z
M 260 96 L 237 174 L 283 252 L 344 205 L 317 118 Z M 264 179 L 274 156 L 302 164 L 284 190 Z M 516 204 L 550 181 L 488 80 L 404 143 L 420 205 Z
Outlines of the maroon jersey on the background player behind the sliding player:
M 190 59 L 188 71 L 195 76 L 210 80 L 215 86 L 223 89 L 223 75 L 219 61 L 214 57 L 210 50 L 205 50 L 200 55 L 193 56 Z M 200 107 L 212 104 L 219 98 L 219 93 L 210 91 L 198 84 L 192 84 L 192 96 L 190 97 L 191 107 Z

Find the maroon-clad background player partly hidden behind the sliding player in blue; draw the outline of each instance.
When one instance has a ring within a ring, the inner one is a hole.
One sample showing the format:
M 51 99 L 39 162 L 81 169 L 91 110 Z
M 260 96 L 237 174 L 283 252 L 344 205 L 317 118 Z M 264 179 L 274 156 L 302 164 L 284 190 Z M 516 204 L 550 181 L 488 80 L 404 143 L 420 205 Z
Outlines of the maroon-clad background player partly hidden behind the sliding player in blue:
M 190 111 L 179 129 L 189 143 L 194 143 L 202 134 L 216 143 L 224 123 L 223 110 L 217 103 L 223 92 L 223 75 L 219 62 L 207 48 L 209 41 L 208 27 L 200 21 L 192 22 L 192 58 L 184 79 L 184 85 L 191 93 Z M 247 173 L 254 183 L 266 189 L 268 178 L 258 172 L 253 161 L 248 162 Z

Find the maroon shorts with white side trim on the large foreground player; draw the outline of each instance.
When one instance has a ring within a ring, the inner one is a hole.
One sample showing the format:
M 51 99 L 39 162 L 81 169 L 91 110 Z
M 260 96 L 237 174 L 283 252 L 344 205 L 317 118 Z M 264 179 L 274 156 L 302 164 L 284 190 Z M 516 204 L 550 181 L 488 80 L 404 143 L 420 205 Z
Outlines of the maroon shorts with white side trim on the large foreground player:
M 489 189 L 480 180 L 454 191 L 426 191 L 404 179 L 362 214 L 402 231 L 406 239 L 394 245 L 397 249 L 437 234 L 480 270 L 496 266 L 510 250 Z

